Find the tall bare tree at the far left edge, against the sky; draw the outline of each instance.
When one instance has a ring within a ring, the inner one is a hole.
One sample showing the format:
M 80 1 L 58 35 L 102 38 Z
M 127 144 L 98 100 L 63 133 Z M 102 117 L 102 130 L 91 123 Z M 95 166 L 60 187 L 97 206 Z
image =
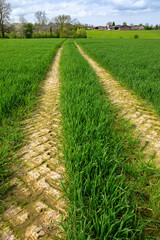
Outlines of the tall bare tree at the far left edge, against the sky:
M 9 23 L 11 6 L 5 0 L 0 0 L 0 29 L 4 38 L 5 27 Z

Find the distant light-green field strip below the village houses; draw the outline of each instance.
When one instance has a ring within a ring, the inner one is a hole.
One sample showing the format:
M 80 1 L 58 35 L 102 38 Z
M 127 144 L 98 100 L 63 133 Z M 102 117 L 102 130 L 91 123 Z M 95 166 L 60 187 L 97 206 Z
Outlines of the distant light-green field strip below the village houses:
M 160 30 L 143 31 L 105 31 L 105 30 L 87 30 L 87 38 L 134 38 L 137 34 L 142 39 L 160 39 Z

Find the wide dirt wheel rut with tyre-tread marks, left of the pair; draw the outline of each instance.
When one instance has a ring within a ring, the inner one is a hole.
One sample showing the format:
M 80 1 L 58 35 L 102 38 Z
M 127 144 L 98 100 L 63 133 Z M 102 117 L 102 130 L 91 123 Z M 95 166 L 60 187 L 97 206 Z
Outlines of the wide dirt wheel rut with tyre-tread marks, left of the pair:
M 26 144 L 18 156 L 23 166 L 11 182 L 0 216 L 1 240 L 63 237 L 59 223 L 65 214 L 60 180 L 65 169 L 59 154 L 59 49 L 47 75 L 40 107 L 27 122 Z M 61 159 L 61 161 L 60 161 Z

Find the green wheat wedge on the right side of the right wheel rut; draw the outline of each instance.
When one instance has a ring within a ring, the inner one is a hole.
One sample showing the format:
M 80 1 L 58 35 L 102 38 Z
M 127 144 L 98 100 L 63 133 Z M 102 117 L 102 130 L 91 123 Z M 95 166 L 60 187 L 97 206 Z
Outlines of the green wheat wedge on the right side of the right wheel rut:
M 152 103 L 160 114 L 160 40 L 76 41 L 122 85 Z

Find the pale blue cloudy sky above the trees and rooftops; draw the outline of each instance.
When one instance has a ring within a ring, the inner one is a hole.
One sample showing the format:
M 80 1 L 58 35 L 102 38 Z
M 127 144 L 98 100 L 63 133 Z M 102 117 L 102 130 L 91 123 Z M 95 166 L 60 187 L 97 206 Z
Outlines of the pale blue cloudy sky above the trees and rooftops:
M 24 15 L 34 22 L 37 11 L 45 11 L 49 19 L 60 14 L 70 15 L 81 23 L 105 25 L 116 24 L 160 24 L 160 0 L 6 0 L 11 4 L 12 21 Z

